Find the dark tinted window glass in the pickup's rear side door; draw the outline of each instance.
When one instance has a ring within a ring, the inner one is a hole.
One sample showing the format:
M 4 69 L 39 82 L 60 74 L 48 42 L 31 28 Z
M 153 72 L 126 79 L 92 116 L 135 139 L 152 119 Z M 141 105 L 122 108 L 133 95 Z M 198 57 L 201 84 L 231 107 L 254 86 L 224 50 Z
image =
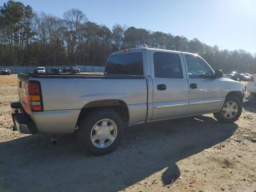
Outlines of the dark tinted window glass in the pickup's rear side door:
M 172 53 L 154 53 L 155 77 L 159 78 L 183 78 L 180 56 Z

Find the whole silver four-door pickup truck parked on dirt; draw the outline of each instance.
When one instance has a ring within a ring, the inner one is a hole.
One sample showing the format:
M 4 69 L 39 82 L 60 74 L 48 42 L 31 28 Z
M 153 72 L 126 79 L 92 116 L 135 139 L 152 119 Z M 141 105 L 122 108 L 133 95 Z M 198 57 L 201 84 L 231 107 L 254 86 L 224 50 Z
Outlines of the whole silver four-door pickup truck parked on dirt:
M 104 75 L 18 74 L 19 102 L 11 108 L 19 132 L 76 130 L 86 151 L 102 155 L 129 126 L 208 113 L 234 122 L 243 89 L 196 54 L 134 48 L 112 53 Z

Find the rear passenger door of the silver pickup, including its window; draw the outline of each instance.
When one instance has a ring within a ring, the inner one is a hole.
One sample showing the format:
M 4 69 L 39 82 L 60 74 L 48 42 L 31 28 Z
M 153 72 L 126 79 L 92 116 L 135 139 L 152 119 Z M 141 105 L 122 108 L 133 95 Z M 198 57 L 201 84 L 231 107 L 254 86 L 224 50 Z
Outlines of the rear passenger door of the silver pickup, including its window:
M 152 120 L 186 116 L 188 80 L 181 52 L 150 51 L 153 81 Z

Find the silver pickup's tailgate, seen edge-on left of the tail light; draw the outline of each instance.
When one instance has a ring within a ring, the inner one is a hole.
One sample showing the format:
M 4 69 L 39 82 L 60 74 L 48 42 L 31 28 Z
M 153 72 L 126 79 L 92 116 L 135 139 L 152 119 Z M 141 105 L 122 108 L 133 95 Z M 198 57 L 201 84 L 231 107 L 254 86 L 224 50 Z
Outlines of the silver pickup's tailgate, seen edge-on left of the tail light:
M 18 94 L 19 102 L 22 108 L 28 112 L 29 101 L 28 101 L 28 77 L 30 74 L 18 74 Z

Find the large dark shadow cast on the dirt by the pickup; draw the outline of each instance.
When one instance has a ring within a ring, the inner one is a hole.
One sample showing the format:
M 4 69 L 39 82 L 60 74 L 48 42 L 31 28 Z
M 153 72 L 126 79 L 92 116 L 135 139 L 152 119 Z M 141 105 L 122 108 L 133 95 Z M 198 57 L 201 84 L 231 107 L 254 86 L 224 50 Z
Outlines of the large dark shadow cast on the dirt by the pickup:
M 0 191 L 118 191 L 159 172 L 169 185 L 180 176 L 176 163 L 226 139 L 238 125 L 208 116 L 134 126 L 114 152 L 84 155 L 74 135 L 58 145 L 50 137 L 30 135 L 0 143 Z M 152 183 L 149 183 L 152 184 Z

